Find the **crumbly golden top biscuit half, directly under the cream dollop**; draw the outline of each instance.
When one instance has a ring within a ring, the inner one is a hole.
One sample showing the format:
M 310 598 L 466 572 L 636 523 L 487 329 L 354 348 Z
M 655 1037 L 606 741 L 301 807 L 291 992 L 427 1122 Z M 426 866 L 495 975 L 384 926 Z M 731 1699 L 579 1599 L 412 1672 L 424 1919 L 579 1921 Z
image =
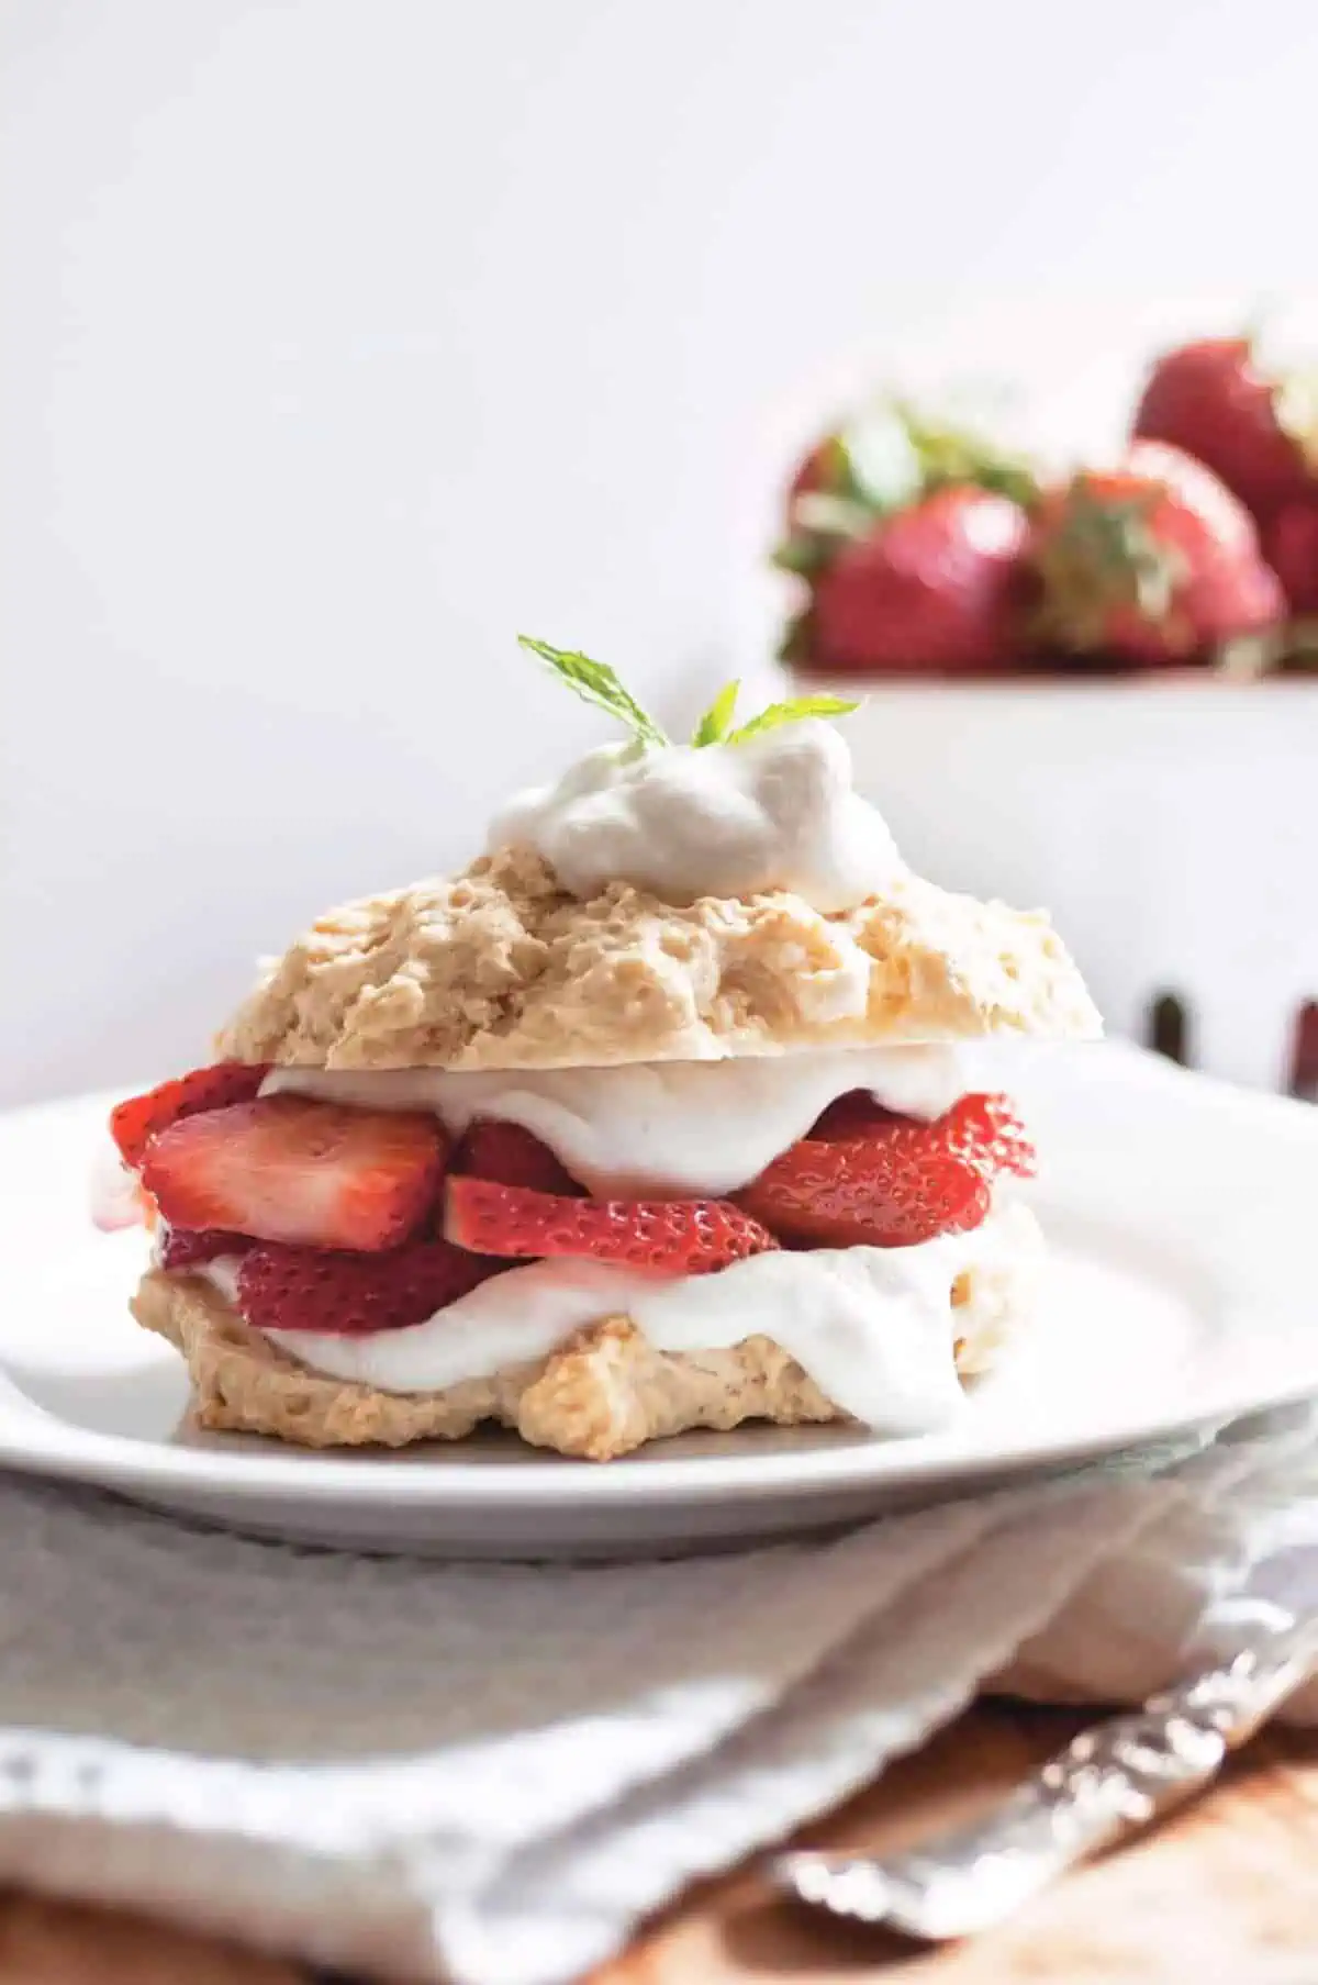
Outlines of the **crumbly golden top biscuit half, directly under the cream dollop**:
M 564 893 L 532 850 L 320 917 L 218 1038 L 310 1068 L 719 1060 L 985 1034 L 1094 1036 L 1042 915 L 911 875 L 859 909 L 796 895 Z

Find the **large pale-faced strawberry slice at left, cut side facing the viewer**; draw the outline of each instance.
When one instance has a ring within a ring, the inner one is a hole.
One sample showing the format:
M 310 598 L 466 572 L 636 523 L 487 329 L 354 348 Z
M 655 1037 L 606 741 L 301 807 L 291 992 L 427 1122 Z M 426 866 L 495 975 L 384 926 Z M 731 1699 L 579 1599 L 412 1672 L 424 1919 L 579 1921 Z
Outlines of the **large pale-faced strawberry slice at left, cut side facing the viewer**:
M 143 1185 L 171 1227 L 226 1227 L 292 1247 L 397 1247 L 443 1173 L 431 1116 L 264 1096 L 159 1131 Z

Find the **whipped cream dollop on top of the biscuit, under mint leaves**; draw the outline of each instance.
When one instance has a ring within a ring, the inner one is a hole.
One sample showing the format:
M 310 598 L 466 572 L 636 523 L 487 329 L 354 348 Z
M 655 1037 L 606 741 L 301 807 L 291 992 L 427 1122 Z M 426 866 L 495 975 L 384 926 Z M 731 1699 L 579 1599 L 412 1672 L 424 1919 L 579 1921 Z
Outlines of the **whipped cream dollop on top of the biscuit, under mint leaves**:
M 905 873 L 846 738 L 816 717 L 744 744 L 605 744 L 510 800 L 488 842 L 534 848 L 580 897 L 609 881 L 667 903 L 790 889 L 840 911 Z

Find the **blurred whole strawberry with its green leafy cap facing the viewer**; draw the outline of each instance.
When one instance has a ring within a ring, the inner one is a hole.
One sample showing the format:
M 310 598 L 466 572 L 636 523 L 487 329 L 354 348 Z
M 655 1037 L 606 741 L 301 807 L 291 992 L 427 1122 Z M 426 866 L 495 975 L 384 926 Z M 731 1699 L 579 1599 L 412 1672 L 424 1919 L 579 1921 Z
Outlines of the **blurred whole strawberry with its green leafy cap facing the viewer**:
M 1157 443 L 1046 496 L 1030 562 L 1036 633 L 1064 655 L 1207 661 L 1286 611 L 1243 504 L 1203 463 Z

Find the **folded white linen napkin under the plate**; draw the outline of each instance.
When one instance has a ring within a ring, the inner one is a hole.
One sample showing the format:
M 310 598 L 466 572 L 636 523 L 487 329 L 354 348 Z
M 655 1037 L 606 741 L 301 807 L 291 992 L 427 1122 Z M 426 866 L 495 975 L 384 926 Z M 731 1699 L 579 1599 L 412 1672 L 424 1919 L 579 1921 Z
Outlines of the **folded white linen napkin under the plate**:
M 6 1477 L 0 1568 L 0 1880 L 556 1985 L 992 1677 L 1137 1697 L 1318 1606 L 1318 1411 L 661 1564 L 363 1558 Z

